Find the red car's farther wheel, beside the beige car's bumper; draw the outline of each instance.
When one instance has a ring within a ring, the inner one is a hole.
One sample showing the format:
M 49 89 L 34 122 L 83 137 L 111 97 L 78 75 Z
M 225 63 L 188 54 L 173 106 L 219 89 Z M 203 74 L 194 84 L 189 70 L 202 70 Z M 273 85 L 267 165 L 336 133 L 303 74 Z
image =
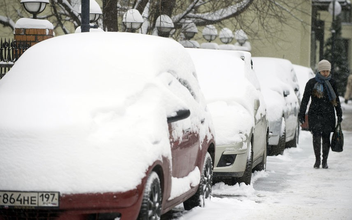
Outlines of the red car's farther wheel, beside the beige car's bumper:
M 191 210 L 196 206 L 204 206 L 204 201 L 210 198 L 213 186 L 213 163 L 209 153 L 205 155 L 203 172 L 200 178 L 198 189 L 192 197 L 183 202 L 185 210 Z

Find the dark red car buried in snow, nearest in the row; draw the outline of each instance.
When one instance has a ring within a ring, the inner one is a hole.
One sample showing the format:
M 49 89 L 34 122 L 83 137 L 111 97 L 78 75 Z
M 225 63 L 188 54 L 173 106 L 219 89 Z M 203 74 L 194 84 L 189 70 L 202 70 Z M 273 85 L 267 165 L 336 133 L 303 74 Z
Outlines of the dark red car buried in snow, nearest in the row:
M 160 219 L 210 196 L 214 126 L 174 40 L 42 41 L 0 80 L 0 102 L 2 220 Z

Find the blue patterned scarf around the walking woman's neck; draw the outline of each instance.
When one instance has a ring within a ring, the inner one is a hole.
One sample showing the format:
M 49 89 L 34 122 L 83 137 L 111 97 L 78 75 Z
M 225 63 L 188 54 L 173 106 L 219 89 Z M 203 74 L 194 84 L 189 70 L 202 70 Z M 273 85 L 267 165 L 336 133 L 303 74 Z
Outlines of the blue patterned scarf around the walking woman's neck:
M 324 77 L 319 72 L 317 72 L 317 74 L 315 75 L 315 81 L 317 81 L 317 83 L 314 85 L 313 93 L 315 97 L 323 98 L 323 91 L 325 86 L 325 88 L 327 88 L 327 94 L 329 96 L 330 102 L 332 103 L 332 105 L 336 106 L 336 94 L 329 82 L 330 79 L 331 75 Z

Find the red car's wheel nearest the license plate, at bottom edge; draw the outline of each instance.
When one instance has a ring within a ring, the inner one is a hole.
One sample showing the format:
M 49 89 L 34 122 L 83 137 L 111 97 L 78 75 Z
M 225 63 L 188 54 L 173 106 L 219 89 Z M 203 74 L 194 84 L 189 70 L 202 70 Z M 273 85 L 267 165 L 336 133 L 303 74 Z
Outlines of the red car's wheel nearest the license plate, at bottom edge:
M 159 220 L 161 216 L 161 186 L 156 172 L 152 172 L 147 180 L 142 206 L 138 220 Z

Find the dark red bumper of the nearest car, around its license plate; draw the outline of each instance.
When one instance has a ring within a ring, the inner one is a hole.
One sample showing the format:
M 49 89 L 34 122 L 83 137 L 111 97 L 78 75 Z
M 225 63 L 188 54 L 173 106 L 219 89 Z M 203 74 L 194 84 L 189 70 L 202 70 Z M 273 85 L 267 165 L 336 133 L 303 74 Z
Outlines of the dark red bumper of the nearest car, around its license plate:
M 122 193 L 63 194 L 59 208 L 35 209 L 34 207 L 0 208 L 0 220 L 104 220 L 136 219 L 142 199 L 138 187 Z

